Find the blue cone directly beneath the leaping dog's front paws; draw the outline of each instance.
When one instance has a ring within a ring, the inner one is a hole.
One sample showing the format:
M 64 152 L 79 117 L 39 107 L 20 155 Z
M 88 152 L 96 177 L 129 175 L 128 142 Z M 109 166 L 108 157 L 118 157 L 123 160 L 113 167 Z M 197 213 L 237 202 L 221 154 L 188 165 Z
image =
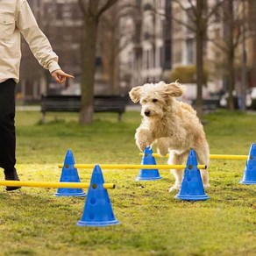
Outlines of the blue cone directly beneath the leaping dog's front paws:
M 156 165 L 152 153 L 152 148 L 147 146 L 141 160 L 142 165 Z M 161 178 L 158 169 L 140 169 L 139 175 L 136 177 L 135 181 L 155 181 L 160 180 Z

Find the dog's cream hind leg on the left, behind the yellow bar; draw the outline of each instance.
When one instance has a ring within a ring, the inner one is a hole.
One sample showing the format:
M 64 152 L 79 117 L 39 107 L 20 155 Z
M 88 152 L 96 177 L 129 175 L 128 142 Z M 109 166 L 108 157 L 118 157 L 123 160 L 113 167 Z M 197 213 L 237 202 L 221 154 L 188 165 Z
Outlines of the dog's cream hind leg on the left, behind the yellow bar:
M 184 160 L 186 159 L 186 157 L 188 157 L 188 152 L 178 154 L 171 151 L 169 153 L 168 164 L 181 165 L 184 163 Z M 173 169 L 171 170 L 171 173 L 174 175 L 175 184 L 173 187 L 169 188 L 169 192 L 172 192 L 174 189 L 181 188 L 181 181 L 183 178 L 184 170 Z

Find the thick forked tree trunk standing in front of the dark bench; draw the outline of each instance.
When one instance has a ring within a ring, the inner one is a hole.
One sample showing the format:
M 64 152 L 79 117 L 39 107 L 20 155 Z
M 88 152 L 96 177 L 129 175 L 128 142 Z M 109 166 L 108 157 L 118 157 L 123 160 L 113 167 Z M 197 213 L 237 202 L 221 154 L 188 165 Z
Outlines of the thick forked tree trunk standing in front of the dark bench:
M 96 39 L 99 20 L 117 0 L 78 0 L 83 14 L 80 124 L 91 124 L 94 113 Z

